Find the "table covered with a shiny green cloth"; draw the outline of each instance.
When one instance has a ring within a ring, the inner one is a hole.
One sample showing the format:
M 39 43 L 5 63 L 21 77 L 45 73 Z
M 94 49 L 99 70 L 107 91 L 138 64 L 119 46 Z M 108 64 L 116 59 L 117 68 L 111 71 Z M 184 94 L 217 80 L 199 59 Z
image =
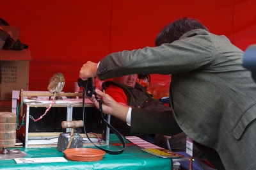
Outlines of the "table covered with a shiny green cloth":
M 115 134 L 110 134 L 109 145 L 102 146 L 108 150 L 120 150 L 122 146 L 113 146 L 113 143 L 120 143 Z M 129 143 L 125 139 L 125 143 Z M 86 146 L 86 148 L 96 148 L 95 146 Z M 65 154 L 57 148 L 20 148 L 25 151 L 25 158 L 42 157 L 64 157 Z M 67 159 L 67 158 L 66 158 Z M 68 160 L 68 159 L 67 159 Z M 68 162 L 54 163 L 35 163 L 35 164 L 16 164 L 15 160 L 0 160 L 0 169 L 172 169 L 172 159 L 159 158 L 140 150 L 139 146 L 126 146 L 120 155 L 109 155 L 106 153 L 102 160 L 95 162 L 77 162 L 68 160 Z

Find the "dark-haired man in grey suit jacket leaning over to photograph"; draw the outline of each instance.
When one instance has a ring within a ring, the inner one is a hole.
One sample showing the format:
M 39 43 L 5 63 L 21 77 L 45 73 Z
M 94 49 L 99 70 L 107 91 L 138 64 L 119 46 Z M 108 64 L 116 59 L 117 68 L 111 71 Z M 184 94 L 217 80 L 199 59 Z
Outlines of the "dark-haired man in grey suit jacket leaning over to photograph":
M 180 127 L 216 169 L 255 169 L 256 84 L 242 66 L 243 55 L 227 37 L 183 18 L 163 28 L 156 47 L 115 52 L 100 63 L 88 61 L 80 77 L 172 74 L 173 114 L 131 109 L 96 92 L 104 112 L 131 123 L 134 134 L 174 135 Z M 94 96 L 91 100 L 99 107 Z

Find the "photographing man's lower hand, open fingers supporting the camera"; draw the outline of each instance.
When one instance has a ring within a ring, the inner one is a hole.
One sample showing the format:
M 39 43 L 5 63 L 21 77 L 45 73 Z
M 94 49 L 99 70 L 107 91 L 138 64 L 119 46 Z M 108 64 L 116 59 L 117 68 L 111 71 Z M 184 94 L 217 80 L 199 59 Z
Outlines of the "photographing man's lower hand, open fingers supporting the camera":
M 111 114 L 116 118 L 119 118 L 122 121 L 126 122 L 127 112 L 129 110 L 129 106 L 118 104 L 112 97 L 108 94 L 103 93 L 99 89 L 95 89 L 95 93 L 97 94 L 97 98 L 102 101 L 102 111 L 106 114 Z M 99 102 L 96 100 L 95 95 L 92 95 L 89 98 L 95 106 L 99 109 Z

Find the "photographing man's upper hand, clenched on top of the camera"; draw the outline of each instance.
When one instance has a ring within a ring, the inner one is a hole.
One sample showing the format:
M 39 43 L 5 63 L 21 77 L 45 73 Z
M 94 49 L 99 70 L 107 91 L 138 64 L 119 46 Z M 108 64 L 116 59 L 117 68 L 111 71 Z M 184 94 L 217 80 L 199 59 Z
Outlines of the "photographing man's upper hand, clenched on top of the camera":
M 90 77 L 95 77 L 97 75 L 97 69 L 98 69 L 98 63 L 93 63 L 91 61 L 87 61 L 85 63 L 80 72 L 79 72 L 79 77 L 83 80 L 86 81 Z

